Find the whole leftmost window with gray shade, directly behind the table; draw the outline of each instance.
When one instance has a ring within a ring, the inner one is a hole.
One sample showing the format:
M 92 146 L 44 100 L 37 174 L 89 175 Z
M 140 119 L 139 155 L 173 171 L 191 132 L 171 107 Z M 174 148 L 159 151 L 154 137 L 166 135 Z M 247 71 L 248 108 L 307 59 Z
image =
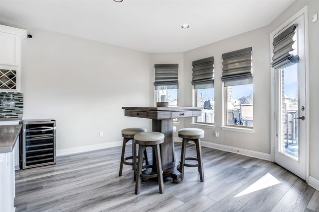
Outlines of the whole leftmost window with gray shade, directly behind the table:
M 177 107 L 178 64 L 155 64 L 156 102 L 168 102 Z

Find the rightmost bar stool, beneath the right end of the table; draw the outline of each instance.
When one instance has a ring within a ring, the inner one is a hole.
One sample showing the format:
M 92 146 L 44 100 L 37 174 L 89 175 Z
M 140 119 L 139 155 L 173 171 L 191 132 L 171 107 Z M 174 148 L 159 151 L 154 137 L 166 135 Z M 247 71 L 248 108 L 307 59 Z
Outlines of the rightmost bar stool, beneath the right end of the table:
M 203 159 L 201 156 L 200 139 L 204 138 L 204 131 L 197 128 L 183 128 L 178 131 L 178 137 L 182 138 L 181 154 L 179 161 L 179 172 L 181 173 L 181 180 L 184 179 L 184 166 L 187 167 L 198 167 L 200 181 L 204 181 L 204 168 Z M 186 145 L 189 141 L 194 141 L 196 144 L 197 158 L 185 157 L 186 156 Z M 185 160 L 197 160 L 197 164 L 187 164 Z

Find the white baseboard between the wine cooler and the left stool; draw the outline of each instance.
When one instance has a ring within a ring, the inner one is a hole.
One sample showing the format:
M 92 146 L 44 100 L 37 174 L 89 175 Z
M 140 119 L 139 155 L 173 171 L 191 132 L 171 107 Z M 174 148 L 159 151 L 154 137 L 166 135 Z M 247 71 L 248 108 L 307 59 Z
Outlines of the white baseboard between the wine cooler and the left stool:
M 98 150 L 98 149 L 110 148 L 110 147 L 114 147 L 114 146 L 121 146 L 122 143 L 123 143 L 123 141 L 114 141 L 114 142 L 108 142 L 108 143 L 79 146 L 79 147 L 74 147 L 74 148 L 58 149 L 58 150 L 56 150 L 56 156 L 76 154 L 76 153 L 81 153 L 81 152 L 86 152 L 86 151 L 93 151 L 93 150 Z

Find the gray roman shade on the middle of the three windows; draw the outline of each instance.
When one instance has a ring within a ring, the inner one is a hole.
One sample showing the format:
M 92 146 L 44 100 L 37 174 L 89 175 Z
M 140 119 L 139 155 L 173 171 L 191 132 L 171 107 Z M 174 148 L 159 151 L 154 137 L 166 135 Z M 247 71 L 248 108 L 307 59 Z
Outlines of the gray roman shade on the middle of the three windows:
M 214 57 L 193 61 L 192 65 L 191 84 L 194 89 L 214 87 Z

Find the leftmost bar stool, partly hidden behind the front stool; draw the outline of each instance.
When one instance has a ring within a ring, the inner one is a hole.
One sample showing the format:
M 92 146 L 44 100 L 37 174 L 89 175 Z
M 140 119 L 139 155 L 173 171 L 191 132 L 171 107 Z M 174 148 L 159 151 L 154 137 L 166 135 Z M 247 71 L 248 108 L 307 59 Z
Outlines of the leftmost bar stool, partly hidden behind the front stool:
M 122 155 L 121 155 L 119 176 L 122 176 L 123 164 L 125 164 L 125 165 L 132 166 L 132 169 L 134 170 L 134 180 L 135 180 L 136 178 L 136 143 L 134 142 L 134 136 L 142 132 L 146 132 L 146 130 L 144 128 L 126 128 L 122 130 L 123 144 L 122 144 Z M 126 143 L 130 140 L 133 140 L 132 156 L 124 157 Z M 145 157 L 146 163 L 148 164 L 149 161 L 148 161 L 147 151 L 144 152 L 144 157 Z M 127 161 L 129 159 L 132 159 L 132 162 Z

